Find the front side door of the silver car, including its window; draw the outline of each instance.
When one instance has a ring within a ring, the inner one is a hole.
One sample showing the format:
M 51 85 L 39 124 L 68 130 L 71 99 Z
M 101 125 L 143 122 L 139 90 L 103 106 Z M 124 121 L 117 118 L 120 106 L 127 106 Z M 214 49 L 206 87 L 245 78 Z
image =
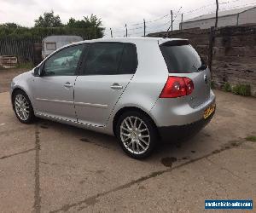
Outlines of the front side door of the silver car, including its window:
M 73 89 L 84 45 L 61 49 L 44 63 L 41 77 L 33 78 L 35 111 L 46 116 L 76 120 Z

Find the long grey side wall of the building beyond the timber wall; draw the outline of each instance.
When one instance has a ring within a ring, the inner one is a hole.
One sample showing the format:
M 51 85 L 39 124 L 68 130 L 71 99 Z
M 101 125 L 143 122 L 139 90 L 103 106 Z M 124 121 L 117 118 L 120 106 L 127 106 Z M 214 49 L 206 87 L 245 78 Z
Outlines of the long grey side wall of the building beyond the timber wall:
M 218 27 L 220 26 L 236 26 L 237 24 L 237 14 L 218 17 Z M 189 29 L 200 27 L 201 29 L 211 28 L 211 26 L 215 26 L 215 18 L 207 19 L 207 20 L 195 20 L 191 22 L 183 22 L 182 29 Z

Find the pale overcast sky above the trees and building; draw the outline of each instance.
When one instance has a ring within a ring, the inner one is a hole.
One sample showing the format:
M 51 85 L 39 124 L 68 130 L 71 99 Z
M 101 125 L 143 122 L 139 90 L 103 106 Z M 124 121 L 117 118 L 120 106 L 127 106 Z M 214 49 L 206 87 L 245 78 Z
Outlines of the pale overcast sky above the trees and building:
M 256 5 L 256 0 L 218 0 L 219 9 L 235 9 Z M 54 10 L 59 14 L 62 23 L 70 17 L 83 19 L 83 16 L 96 14 L 106 27 L 106 37 L 123 37 L 125 24 L 129 36 L 143 35 L 143 19 L 146 21 L 146 32 L 166 31 L 171 22 L 173 11 L 173 29 L 183 20 L 201 14 L 214 12 L 216 0 L 0 0 L 0 24 L 15 22 L 21 26 L 33 26 L 34 20 L 45 11 Z M 154 21 L 152 21 L 154 20 Z

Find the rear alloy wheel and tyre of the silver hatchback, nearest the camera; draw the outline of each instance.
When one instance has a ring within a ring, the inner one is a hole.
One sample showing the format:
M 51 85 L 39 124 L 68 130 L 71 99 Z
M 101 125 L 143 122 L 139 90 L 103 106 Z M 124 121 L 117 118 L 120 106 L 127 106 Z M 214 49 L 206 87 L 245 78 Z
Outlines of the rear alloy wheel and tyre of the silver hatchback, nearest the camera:
M 131 158 L 147 158 L 157 142 L 153 121 L 143 112 L 125 112 L 119 118 L 116 135 L 125 153 Z

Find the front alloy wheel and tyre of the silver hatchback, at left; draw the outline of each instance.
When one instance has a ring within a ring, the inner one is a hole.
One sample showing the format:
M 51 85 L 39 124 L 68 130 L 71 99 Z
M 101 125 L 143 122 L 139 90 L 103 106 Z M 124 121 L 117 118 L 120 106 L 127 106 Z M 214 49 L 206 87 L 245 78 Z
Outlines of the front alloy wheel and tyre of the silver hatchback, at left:
M 13 96 L 13 107 L 16 117 L 20 120 L 21 123 L 32 123 L 35 118 L 32 104 L 26 93 L 22 90 L 15 91 Z

